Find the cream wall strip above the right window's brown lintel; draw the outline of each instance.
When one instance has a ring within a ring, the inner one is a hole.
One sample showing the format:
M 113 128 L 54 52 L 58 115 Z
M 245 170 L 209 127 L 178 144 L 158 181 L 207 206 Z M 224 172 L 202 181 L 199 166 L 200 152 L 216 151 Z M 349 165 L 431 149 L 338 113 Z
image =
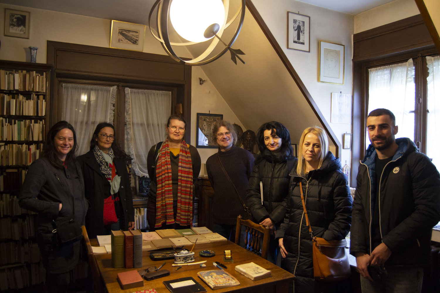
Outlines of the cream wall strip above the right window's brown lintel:
M 414 0 L 396 0 L 356 15 L 354 33 L 396 22 L 416 14 L 420 14 L 420 12 Z

